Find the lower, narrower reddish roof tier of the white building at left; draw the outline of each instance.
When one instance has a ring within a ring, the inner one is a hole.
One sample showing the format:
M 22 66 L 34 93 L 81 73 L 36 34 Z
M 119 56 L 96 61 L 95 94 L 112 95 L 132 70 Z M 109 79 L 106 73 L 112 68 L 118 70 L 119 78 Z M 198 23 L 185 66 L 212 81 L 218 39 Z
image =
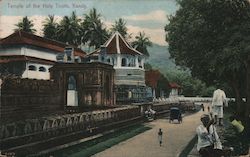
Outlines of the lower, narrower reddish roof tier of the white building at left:
M 31 62 L 49 64 L 49 65 L 55 64 L 55 62 L 50 61 L 50 60 L 36 58 L 36 57 L 29 57 L 29 56 L 24 56 L 24 55 L 0 56 L 0 63 L 10 63 L 10 62 L 18 62 L 18 61 L 31 61 Z

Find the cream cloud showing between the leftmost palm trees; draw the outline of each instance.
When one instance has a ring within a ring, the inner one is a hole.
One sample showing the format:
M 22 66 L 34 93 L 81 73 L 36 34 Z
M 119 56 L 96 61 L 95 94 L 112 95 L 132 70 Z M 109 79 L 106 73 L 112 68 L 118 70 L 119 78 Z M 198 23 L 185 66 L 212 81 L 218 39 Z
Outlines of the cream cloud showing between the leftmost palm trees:
M 43 21 L 48 16 L 28 16 L 30 20 L 34 23 L 34 29 L 36 29 L 36 35 L 42 36 Z M 23 16 L 0 16 L 0 38 L 5 38 L 14 32 L 16 29 L 15 24 L 22 20 Z M 59 22 L 62 17 L 55 16 L 56 22 Z

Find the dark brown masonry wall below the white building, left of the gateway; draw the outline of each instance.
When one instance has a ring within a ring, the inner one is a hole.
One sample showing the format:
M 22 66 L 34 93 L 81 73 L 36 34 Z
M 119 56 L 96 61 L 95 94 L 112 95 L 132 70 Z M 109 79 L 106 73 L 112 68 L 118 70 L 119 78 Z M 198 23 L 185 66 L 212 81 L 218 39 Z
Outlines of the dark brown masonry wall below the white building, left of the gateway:
M 62 111 L 54 81 L 5 78 L 1 85 L 0 121 L 16 121 Z

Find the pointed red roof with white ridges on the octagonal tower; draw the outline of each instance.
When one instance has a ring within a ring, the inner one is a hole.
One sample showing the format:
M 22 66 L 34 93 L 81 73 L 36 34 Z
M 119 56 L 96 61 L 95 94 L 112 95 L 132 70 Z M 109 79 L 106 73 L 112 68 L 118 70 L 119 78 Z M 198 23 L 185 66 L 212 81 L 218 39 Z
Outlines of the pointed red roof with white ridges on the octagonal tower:
M 119 32 L 115 32 L 109 40 L 103 45 L 106 47 L 107 54 L 130 54 L 130 55 L 143 55 L 141 52 L 134 49 Z M 100 49 L 91 52 L 88 55 L 95 55 L 100 53 Z

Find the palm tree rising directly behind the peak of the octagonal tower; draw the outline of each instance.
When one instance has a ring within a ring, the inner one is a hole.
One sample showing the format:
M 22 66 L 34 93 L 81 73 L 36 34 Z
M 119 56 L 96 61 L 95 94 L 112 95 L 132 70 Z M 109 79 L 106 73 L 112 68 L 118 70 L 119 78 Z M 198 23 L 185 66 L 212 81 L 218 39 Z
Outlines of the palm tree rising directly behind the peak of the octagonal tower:
M 115 24 L 112 25 L 111 32 L 114 33 L 118 31 L 124 38 L 130 38 L 130 35 L 128 35 L 128 28 L 126 27 L 126 22 L 119 18 L 118 21 L 115 21 Z

